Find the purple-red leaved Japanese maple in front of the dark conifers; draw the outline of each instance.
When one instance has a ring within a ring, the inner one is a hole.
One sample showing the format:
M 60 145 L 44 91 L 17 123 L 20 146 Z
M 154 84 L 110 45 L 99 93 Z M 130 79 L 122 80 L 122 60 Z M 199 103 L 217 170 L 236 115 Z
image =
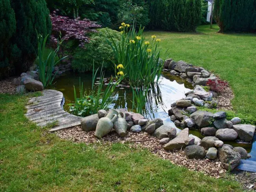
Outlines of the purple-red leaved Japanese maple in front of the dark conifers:
M 95 28 L 101 27 L 99 24 L 89 19 L 70 19 L 69 17 L 56 15 L 57 12 L 58 10 L 55 10 L 50 14 L 52 21 L 51 40 L 56 44 L 59 34 L 61 33 L 61 39 L 63 41 L 75 39 L 79 42 L 80 47 L 84 47 L 84 44 L 89 42 L 89 37 L 86 36 L 86 33 L 96 31 Z

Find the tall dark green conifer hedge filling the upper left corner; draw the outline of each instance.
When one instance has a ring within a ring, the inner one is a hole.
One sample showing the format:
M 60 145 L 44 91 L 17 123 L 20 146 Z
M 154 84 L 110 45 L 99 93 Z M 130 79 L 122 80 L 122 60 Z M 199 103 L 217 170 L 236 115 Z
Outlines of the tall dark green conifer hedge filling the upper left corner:
M 1 0 L 0 4 L 0 38 L 6 40 L 0 46 L 3 78 L 28 69 L 35 59 L 36 30 L 45 36 L 51 33 L 52 26 L 45 0 Z

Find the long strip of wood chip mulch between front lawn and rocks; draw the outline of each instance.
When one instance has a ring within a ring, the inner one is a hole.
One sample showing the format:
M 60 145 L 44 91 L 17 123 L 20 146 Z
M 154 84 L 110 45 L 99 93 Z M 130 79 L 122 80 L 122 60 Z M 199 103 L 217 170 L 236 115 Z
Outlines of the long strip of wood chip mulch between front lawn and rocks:
M 163 146 L 159 144 L 159 140 L 156 137 L 148 135 L 145 132 L 132 133 L 128 132 L 126 137 L 119 137 L 115 131 L 112 131 L 102 140 L 98 140 L 93 136 L 94 131 L 85 132 L 81 129 L 81 126 L 76 126 L 71 129 L 63 129 L 57 131 L 56 134 L 65 140 L 70 140 L 72 142 L 84 142 L 86 144 L 91 143 L 101 143 L 101 144 L 111 144 L 115 142 L 128 143 L 130 148 L 142 149 L 146 148 L 151 153 L 171 161 L 173 164 L 178 166 L 185 166 L 189 170 L 199 171 L 205 175 L 210 175 L 215 178 L 224 177 L 226 170 L 224 170 L 222 163 L 218 159 L 210 161 L 208 159 L 188 159 L 185 152 L 180 151 L 165 151 Z

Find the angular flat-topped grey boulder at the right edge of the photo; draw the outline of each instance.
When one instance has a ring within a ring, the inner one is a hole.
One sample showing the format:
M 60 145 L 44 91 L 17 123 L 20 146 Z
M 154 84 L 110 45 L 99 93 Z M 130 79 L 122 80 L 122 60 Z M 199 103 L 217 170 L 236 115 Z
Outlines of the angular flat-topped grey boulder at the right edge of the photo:
M 238 124 L 238 125 L 233 125 L 233 129 L 238 133 L 238 137 L 241 140 L 250 142 L 254 135 L 255 126 Z

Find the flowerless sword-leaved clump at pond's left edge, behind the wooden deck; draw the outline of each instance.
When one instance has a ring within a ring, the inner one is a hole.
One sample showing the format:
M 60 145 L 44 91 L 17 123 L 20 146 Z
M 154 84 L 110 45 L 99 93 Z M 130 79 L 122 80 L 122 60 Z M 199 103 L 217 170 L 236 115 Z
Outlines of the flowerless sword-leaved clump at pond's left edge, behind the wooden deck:
M 57 59 L 57 55 L 59 52 L 59 44 L 58 42 L 57 48 L 54 51 L 51 51 L 47 58 L 44 57 L 45 55 L 45 44 L 48 39 L 48 35 L 43 38 L 42 35 L 37 34 L 37 65 L 38 65 L 38 74 L 39 74 L 39 80 L 43 83 L 44 87 L 47 87 L 48 85 L 52 84 L 52 81 L 54 80 L 56 73 L 52 75 L 52 71 L 54 66 L 59 63 L 59 61 L 65 59 L 67 56 L 62 57 L 61 59 Z

